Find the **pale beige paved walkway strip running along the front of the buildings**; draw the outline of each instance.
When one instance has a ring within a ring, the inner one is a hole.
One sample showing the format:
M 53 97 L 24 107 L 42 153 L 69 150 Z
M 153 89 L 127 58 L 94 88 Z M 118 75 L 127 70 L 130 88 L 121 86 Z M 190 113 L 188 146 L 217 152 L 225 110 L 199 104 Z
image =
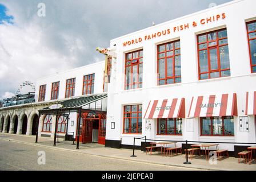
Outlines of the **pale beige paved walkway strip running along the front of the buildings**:
M 16 135 L 16 134 L 0 134 L 0 139 L 11 139 L 15 142 L 32 144 L 35 146 L 44 146 L 50 148 L 56 148 L 59 150 L 69 150 L 73 152 L 78 152 L 82 154 L 90 154 L 102 156 L 105 158 L 115 158 L 115 159 L 123 159 L 123 160 L 133 160 L 137 162 L 144 163 L 153 163 L 153 164 L 162 164 L 168 166 L 177 166 L 177 167 L 189 167 L 189 168 L 197 168 L 197 169 L 208 169 L 208 170 L 249 170 L 256 171 L 256 162 L 254 161 L 251 165 L 248 163 L 240 163 L 238 164 L 237 158 L 223 158 L 221 161 L 217 161 L 217 164 L 210 164 L 203 157 L 197 157 L 193 160 L 189 160 L 191 164 L 183 164 L 185 162 L 185 155 L 177 155 L 177 156 L 161 156 L 154 152 L 153 155 L 146 155 L 145 152 L 135 150 L 135 155 L 137 157 L 131 158 L 132 150 L 127 149 L 116 149 L 116 148 L 105 148 L 101 144 L 98 143 L 90 143 L 90 144 L 80 144 L 79 150 L 76 150 L 76 145 L 73 145 L 73 142 L 63 141 L 63 139 L 59 139 L 60 143 L 57 143 L 57 146 L 53 146 L 53 139 L 46 137 L 39 137 L 38 143 L 35 143 L 35 136 L 26 136 L 26 135 Z M 76 143 L 76 142 L 75 142 Z

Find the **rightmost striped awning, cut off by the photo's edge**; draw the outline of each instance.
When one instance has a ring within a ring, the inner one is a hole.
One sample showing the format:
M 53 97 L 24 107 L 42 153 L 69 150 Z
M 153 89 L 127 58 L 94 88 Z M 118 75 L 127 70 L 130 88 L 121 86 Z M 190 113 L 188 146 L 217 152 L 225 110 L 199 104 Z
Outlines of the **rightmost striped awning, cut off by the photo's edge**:
M 256 115 L 256 91 L 246 92 L 246 115 Z

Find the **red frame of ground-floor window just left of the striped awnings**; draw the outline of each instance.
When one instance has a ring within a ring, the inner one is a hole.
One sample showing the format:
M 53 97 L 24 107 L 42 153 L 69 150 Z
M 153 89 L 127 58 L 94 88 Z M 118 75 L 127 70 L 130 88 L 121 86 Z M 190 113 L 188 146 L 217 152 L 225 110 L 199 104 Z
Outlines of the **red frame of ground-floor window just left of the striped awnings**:
M 137 106 L 137 111 L 132 111 L 132 106 Z M 141 110 L 139 110 L 141 106 Z M 126 111 L 126 107 L 130 107 L 130 111 Z M 126 117 L 126 114 L 129 114 L 130 117 Z M 137 117 L 131 117 L 131 114 L 137 114 Z M 141 115 L 139 117 L 139 115 Z M 129 119 L 129 132 L 125 132 L 125 119 Z M 131 119 L 137 119 L 136 132 L 131 133 Z M 139 133 L 139 119 L 141 119 L 141 133 Z M 142 105 L 127 105 L 123 106 L 123 134 L 142 134 Z

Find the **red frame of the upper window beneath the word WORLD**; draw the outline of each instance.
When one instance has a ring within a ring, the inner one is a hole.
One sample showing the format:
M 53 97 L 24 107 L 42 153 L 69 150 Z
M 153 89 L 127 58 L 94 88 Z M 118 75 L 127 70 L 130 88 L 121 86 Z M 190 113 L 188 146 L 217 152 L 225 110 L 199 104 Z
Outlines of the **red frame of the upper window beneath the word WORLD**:
M 138 53 L 138 57 L 134 58 L 134 54 Z M 129 59 L 129 55 L 131 55 L 131 59 Z M 133 73 L 133 66 L 137 65 L 137 73 Z M 142 65 L 142 71 L 140 72 L 139 66 Z M 127 67 L 131 67 L 130 73 L 130 82 L 127 84 L 127 75 L 126 69 Z M 139 81 L 139 75 L 143 73 L 143 49 L 138 51 L 128 52 L 125 54 L 125 90 L 138 89 L 142 88 L 142 81 Z M 137 74 L 137 82 L 133 82 L 133 75 Z

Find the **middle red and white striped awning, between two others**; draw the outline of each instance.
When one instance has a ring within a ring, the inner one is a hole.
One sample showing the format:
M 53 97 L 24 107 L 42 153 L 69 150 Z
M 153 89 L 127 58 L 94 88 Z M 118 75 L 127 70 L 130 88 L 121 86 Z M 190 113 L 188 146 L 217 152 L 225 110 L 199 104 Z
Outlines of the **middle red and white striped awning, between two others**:
M 192 97 L 188 117 L 237 115 L 237 94 Z

